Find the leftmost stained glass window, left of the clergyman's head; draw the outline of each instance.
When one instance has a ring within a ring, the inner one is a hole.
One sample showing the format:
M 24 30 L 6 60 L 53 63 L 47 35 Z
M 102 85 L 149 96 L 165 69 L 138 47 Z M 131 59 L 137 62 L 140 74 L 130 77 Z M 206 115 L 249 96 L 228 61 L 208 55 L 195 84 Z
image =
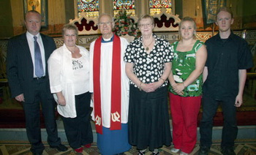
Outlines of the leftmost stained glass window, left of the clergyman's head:
M 78 17 L 81 12 L 86 12 L 88 17 L 99 17 L 99 0 L 77 0 Z

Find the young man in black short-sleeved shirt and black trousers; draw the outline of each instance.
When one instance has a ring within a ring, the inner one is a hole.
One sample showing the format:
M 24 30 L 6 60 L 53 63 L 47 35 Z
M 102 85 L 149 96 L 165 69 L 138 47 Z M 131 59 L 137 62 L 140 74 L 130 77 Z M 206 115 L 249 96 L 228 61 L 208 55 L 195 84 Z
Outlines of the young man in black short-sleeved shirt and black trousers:
M 233 34 L 233 13 L 227 7 L 217 12 L 219 33 L 206 41 L 208 58 L 203 72 L 203 118 L 200 122 L 200 155 L 211 147 L 214 115 L 222 103 L 224 125 L 222 154 L 233 155 L 238 133 L 236 107 L 243 104 L 246 69 L 253 67 L 252 53 L 244 39 Z

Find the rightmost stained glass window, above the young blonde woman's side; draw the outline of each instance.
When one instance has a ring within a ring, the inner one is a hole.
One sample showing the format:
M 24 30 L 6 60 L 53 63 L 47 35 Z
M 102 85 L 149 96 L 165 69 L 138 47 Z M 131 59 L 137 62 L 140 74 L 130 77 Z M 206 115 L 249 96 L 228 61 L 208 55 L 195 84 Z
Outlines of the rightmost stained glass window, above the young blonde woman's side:
M 159 14 L 162 8 L 171 13 L 172 7 L 172 0 L 149 0 L 150 15 Z

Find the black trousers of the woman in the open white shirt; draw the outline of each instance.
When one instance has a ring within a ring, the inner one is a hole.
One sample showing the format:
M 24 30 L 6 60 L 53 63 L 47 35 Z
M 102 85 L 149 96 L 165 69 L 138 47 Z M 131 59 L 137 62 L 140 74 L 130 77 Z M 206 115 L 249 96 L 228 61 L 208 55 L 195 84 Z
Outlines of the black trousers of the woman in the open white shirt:
M 75 96 L 76 118 L 62 117 L 67 140 L 71 148 L 80 148 L 93 142 L 91 129 L 91 93 Z

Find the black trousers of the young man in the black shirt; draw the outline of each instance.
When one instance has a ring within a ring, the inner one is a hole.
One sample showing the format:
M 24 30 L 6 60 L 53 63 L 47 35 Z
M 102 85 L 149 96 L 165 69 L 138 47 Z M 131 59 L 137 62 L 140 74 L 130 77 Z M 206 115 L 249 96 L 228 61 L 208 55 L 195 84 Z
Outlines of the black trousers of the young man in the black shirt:
M 203 94 L 203 117 L 200 121 L 200 145 L 211 147 L 214 116 L 221 102 L 224 117 L 221 147 L 230 148 L 234 146 L 234 141 L 238 133 L 236 107 L 234 106 L 235 101 L 236 97 L 213 99 L 208 94 Z

